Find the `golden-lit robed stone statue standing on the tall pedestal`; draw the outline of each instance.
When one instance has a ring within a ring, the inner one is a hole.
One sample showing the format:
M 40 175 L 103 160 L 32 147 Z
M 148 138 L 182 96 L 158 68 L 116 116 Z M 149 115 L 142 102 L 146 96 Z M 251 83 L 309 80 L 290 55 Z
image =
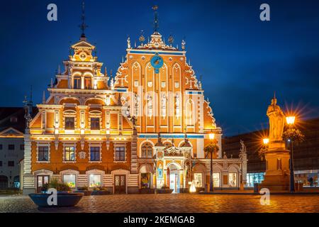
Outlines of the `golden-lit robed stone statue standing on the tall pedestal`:
M 284 133 L 285 115 L 280 106 L 276 105 L 277 99 L 274 96 L 272 104 L 268 106 L 267 116 L 269 117 L 269 141 L 281 141 Z

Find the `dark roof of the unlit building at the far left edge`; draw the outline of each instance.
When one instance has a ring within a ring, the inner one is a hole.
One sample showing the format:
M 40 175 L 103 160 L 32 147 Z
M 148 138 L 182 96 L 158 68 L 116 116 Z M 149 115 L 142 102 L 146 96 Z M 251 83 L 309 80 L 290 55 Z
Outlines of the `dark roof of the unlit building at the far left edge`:
M 38 108 L 33 107 L 33 116 L 37 113 Z M 25 114 L 26 111 L 23 107 L 0 107 L 0 131 L 14 128 L 24 133 L 24 129 L 26 128 Z

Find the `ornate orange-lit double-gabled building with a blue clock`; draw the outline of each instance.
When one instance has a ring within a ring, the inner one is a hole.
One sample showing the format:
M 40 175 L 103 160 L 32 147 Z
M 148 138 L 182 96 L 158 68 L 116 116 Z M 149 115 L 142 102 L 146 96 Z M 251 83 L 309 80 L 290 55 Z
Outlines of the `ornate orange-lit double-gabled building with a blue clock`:
M 64 72 L 59 70 L 26 129 L 26 193 L 52 177 L 113 193 L 164 185 L 179 192 L 193 180 L 204 187 L 209 133 L 220 148 L 213 160 L 215 186 L 245 182 L 245 155 L 223 158 L 222 130 L 187 62 L 186 43 L 179 50 L 171 36 L 167 45 L 157 29 L 155 12 L 155 32 L 146 43 L 141 35 L 134 47 L 128 38 L 114 79 L 101 72 L 103 64 L 84 34 L 72 45 Z

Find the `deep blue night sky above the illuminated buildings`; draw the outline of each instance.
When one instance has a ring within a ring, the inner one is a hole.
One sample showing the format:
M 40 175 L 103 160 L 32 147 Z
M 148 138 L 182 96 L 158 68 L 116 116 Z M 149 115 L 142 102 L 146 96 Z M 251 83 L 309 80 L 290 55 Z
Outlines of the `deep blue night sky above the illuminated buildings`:
M 47 21 L 47 4 L 58 21 Z M 268 3 L 271 21 L 259 20 Z M 99 60 L 116 71 L 126 38 L 152 33 L 159 5 L 159 32 L 175 45 L 186 38 L 187 57 L 225 135 L 266 127 L 267 105 L 276 91 L 279 104 L 305 107 L 319 116 L 319 1 L 97 1 L 86 0 L 86 36 Z M 81 0 L 14 0 L 0 9 L 0 106 L 21 106 L 33 85 L 33 101 L 79 40 Z

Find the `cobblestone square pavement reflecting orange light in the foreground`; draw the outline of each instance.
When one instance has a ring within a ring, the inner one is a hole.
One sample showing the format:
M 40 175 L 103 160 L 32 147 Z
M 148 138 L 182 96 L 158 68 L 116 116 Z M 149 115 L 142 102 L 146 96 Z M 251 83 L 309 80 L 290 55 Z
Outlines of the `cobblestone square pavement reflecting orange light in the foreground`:
M 318 195 L 271 195 L 262 206 L 258 195 L 136 194 L 84 196 L 73 208 L 38 209 L 28 196 L 0 197 L 0 212 L 319 212 Z

